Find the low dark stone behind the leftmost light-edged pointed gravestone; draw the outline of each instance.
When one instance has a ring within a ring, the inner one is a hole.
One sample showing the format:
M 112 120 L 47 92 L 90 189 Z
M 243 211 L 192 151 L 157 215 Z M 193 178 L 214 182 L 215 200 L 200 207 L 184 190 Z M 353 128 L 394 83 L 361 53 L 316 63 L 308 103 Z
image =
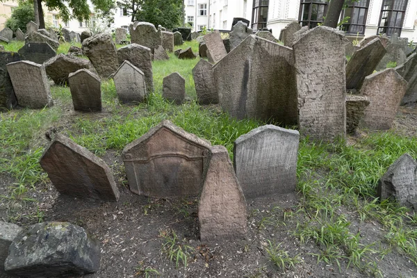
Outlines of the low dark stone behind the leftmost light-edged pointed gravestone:
M 30 60 L 33 63 L 43 64 L 44 61 L 56 56 L 55 50 L 44 42 L 31 42 L 17 51 L 22 60 Z

